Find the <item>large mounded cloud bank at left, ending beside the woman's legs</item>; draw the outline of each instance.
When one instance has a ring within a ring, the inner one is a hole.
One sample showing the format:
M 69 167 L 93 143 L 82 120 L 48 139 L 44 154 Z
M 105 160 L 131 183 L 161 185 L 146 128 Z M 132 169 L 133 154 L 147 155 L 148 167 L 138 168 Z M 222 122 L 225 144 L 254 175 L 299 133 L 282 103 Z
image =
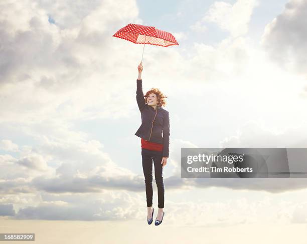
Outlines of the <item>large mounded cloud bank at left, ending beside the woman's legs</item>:
M 36 147 L 23 147 L 17 158 L 0 155 L 0 192 L 143 190 L 143 175 L 118 166 L 100 141 L 58 123 L 31 128 Z

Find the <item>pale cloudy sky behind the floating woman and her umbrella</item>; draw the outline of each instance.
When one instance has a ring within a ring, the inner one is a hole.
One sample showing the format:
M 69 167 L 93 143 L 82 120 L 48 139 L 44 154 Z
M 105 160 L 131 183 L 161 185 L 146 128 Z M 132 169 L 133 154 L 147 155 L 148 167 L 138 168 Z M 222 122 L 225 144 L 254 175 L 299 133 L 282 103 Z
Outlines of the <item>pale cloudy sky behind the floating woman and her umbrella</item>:
M 157 233 L 184 241 L 178 227 L 195 242 L 207 237 L 196 227 L 208 236 L 223 231 L 225 240 L 236 239 L 235 228 L 280 243 L 301 236 L 307 180 L 181 178 L 180 153 L 307 147 L 306 14 L 303 0 L 1 1 L 0 232 L 35 232 L 43 243 L 151 236 L 131 230 L 147 224 L 134 135 L 143 45 L 112 37 L 134 23 L 171 32 L 179 43 L 145 45 L 143 54 L 143 91 L 159 88 L 170 113 L 161 225 L 168 231 Z M 62 225 L 85 231 L 75 238 L 44 230 Z

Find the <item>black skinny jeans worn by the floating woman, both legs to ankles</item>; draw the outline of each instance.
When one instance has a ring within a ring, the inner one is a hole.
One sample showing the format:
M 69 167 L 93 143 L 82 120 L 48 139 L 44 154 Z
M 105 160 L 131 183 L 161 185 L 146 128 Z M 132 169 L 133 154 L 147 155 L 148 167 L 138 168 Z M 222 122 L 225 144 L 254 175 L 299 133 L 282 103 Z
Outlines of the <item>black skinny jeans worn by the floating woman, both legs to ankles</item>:
M 159 151 L 152 151 L 142 148 L 142 165 L 145 176 L 145 189 L 147 207 L 152 206 L 152 160 L 155 165 L 155 179 L 158 188 L 158 207 L 164 208 L 164 182 L 163 182 L 163 167 L 162 167 L 162 153 Z

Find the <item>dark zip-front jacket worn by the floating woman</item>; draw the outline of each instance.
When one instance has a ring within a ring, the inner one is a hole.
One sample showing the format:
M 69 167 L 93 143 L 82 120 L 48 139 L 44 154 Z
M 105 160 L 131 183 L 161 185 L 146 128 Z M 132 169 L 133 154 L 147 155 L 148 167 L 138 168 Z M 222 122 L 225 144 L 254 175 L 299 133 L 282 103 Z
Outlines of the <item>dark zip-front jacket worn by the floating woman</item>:
M 141 113 L 142 124 L 135 135 L 146 141 L 163 144 L 163 157 L 169 157 L 170 117 L 162 107 L 156 110 L 145 102 L 142 80 L 136 80 L 136 102 Z M 163 134 L 163 137 L 162 137 Z

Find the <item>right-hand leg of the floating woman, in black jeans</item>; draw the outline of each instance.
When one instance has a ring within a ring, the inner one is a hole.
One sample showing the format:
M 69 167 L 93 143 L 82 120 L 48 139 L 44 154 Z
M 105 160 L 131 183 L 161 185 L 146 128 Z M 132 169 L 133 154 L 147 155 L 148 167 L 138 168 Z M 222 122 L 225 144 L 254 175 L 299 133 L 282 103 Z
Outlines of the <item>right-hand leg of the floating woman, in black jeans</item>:
M 158 207 L 164 208 L 164 182 L 162 167 L 162 152 L 152 151 L 152 159 L 155 165 L 155 179 L 158 188 Z

